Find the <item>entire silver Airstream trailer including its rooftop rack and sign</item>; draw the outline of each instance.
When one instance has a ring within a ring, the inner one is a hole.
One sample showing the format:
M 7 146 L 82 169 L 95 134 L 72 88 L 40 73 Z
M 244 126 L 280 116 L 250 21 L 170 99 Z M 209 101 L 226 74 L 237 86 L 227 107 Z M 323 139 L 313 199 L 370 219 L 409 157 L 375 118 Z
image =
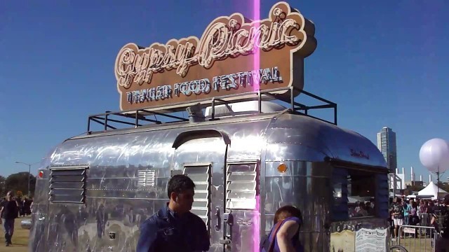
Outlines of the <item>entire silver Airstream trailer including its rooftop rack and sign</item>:
M 302 211 L 305 251 L 385 251 L 386 162 L 337 127 L 335 103 L 303 90 L 314 24 L 285 2 L 268 17 L 236 13 L 201 38 L 123 46 L 120 111 L 89 116 L 87 134 L 39 169 L 29 250 L 135 251 L 170 177 L 187 174 L 210 251 L 258 251 L 286 204 Z M 298 94 L 324 104 L 300 104 Z M 322 109 L 334 120 L 310 116 Z

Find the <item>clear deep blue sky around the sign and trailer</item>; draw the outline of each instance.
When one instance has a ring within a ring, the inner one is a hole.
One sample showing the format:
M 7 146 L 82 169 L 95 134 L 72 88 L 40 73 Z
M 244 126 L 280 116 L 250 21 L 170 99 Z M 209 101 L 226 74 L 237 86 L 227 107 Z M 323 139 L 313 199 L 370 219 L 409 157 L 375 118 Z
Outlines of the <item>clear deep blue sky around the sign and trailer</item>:
M 253 1 L 176 2 L 1 1 L 0 174 L 86 132 L 88 115 L 119 110 L 114 61 L 126 43 L 201 36 L 217 16 L 254 15 Z M 260 18 L 274 3 L 260 2 Z M 316 25 L 304 89 L 336 102 L 340 127 L 373 142 L 391 127 L 398 167 L 426 180 L 420 147 L 449 140 L 448 1 L 289 3 Z

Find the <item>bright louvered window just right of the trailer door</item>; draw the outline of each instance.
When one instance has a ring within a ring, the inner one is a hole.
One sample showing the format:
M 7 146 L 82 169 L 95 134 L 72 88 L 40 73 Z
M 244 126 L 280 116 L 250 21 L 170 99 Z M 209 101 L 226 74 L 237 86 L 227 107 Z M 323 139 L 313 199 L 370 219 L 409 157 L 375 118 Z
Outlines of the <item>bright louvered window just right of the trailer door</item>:
M 257 165 L 229 164 L 226 176 L 226 208 L 248 209 L 256 208 Z

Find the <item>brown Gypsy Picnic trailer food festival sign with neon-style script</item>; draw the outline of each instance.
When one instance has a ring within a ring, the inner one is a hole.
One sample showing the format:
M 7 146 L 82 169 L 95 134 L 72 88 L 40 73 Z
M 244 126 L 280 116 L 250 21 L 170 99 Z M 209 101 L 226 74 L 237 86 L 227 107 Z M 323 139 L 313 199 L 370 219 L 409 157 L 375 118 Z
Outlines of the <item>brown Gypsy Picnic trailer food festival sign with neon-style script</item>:
M 316 48 L 314 32 L 312 22 L 280 2 L 264 20 L 251 22 L 240 13 L 216 18 L 201 38 L 147 48 L 128 43 L 114 66 L 120 108 L 173 108 L 291 85 L 302 90 L 304 58 Z

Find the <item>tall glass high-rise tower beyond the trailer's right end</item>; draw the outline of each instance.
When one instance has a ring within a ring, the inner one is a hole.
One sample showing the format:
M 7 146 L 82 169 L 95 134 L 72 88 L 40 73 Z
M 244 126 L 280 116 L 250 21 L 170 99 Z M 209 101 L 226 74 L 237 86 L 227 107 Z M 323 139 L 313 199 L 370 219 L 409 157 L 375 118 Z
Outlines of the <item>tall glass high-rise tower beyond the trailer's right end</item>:
M 396 133 L 389 127 L 383 127 L 377 133 L 377 148 L 384 155 L 390 172 L 396 171 L 398 167 L 398 158 L 396 152 Z

